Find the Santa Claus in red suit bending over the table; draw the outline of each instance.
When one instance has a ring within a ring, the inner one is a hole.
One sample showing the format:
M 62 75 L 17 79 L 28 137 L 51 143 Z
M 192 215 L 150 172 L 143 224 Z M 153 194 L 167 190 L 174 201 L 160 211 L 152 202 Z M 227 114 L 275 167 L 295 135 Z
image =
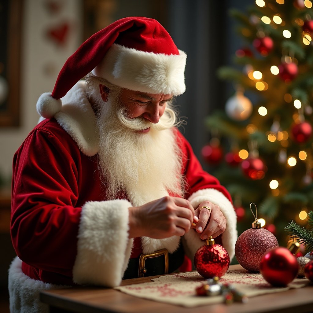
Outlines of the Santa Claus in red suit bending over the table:
M 47 310 L 40 290 L 182 270 L 209 236 L 233 257 L 231 198 L 177 128 L 185 63 L 156 20 L 123 18 L 40 96 L 13 160 L 12 312 Z

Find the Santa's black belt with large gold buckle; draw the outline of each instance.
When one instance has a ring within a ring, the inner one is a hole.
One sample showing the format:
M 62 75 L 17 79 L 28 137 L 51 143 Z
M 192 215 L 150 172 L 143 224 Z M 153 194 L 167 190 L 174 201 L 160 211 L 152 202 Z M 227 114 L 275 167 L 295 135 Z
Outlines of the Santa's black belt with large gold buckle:
M 151 254 L 141 254 L 136 259 L 129 259 L 123 279 L 172 273 L 182 265 L 184 255 L 182 244 L 173 253 L 161 249 Z

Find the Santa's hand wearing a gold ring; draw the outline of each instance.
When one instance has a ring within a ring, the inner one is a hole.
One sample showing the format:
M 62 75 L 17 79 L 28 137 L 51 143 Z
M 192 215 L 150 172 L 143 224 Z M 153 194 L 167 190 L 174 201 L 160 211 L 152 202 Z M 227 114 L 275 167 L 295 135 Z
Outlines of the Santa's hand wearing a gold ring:
M 198 222 L 197 222 L 198 218 Z M 226 229 L 226 218 L 218 205 L 209 201 L 199 204 L 195 211 L 195 228 L 197 233 L 201 233 L 201 239 L 207 239 L 210 236 L 216 238 Z

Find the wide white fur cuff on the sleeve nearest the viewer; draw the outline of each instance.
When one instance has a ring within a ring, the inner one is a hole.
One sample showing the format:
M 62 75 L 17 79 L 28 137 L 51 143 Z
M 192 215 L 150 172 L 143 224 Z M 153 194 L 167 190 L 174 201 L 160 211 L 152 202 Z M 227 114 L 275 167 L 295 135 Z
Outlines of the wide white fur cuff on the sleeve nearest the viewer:
M 120 284 L 131 255 L 127 200 L 90 201 L 81 212 L 73 280 L 78 284 Z

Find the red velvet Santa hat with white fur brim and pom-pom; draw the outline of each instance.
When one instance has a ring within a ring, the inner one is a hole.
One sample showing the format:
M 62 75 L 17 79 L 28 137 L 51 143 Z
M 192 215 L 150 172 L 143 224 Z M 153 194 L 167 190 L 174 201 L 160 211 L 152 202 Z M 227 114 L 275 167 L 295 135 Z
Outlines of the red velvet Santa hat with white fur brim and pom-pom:
M 186 54 L 155 19 L 122 18 L 87 39 L 65 62 L 52 93 L 42 94 L 38 113 L 53 117 L 60 98 L 88 73 L 126 89 L 181 95 Z

